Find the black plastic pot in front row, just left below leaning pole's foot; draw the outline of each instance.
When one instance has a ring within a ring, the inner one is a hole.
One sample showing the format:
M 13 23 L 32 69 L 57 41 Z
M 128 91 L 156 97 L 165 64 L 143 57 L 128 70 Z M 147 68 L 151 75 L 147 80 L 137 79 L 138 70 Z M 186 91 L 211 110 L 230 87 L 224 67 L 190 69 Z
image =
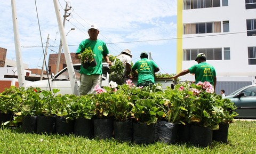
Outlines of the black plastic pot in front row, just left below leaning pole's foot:
M 66 117 L 56 117 L 56 133 L 69 135 L 74 132 L 74 120 L 66 120 Z

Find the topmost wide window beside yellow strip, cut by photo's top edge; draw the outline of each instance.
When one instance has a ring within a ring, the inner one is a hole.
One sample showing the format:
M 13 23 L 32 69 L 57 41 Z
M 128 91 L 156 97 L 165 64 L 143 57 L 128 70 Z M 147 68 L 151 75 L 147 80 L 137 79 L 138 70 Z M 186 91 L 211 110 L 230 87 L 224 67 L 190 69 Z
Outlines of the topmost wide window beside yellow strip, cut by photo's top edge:
M 222 1 L 228 1 L 228 0 L 222 0 Z M 207 8 L 207 7 L 220 7 L 220 0 L 183 0 L 183 3 L 184 3 L 183 5 L 184 10 L 201 9 L 201 8 Z M 222 5 L 223 5 L 223 2 L 222 2 Z

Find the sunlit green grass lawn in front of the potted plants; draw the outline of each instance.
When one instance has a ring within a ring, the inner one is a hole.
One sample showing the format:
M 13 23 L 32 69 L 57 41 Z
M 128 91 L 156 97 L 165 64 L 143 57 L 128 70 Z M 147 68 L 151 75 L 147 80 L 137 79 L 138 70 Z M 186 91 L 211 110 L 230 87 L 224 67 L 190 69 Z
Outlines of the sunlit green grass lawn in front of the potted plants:
M 213 141 L 211 147 L 190 144 L 149 145 L 95 140 L 74 135 L 25 134 L 21 128 L 0 129 L 0 153 L 256 153 L 256 121 L 230 124 L 228 143 Z

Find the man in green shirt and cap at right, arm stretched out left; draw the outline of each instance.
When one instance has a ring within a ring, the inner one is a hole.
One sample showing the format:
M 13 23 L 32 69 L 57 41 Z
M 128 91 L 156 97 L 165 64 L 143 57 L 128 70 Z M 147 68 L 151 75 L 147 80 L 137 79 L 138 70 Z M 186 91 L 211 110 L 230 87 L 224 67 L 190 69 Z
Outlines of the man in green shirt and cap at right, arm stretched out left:
M 189 69 L 181 71 L 179 74 L 171 78 L 178 78 L 188 73 L 195 74 L 196 84 L 198 82 L 209 82 L 211 85 L 213 85 L 215 91 L 217 77 L 214 67 L 211 64 L 205 62 L 206 58 L 205 54 L 203 53 L 198 53 L 195 61 L 197 61 L 197 64 L 190 67 Z

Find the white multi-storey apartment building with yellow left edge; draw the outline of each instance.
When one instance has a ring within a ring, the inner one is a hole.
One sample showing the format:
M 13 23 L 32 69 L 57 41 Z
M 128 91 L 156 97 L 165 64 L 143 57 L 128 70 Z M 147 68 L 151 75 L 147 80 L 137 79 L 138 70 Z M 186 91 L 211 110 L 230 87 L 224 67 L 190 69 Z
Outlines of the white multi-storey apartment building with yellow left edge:
M 255 84 L 256 0 L 177 3 L 177 72 L 193 66 L 197 53 L 205 53 L 206 61 L 217 71 L 217 92 L 227 88 L 231 93 Z M 194 76 L 181 79 L 193 80 Z

